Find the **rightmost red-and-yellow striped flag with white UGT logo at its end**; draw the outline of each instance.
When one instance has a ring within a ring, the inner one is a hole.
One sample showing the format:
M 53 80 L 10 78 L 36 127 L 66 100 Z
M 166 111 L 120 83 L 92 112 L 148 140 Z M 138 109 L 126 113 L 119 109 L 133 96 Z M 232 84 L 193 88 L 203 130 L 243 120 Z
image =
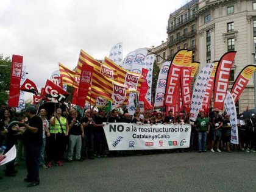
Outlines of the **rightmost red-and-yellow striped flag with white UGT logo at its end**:
M 105 57 L 104 64 L 109 68 L 116 70 L 119 83 L 127 85 L 130 91 L 139 91 L 138 89 L 140 89 L 144 78 L 141 74 L 126 71 L 126 69 L 116 65 L 116 63 L 112 62 L 112 60 L 107 57 Z

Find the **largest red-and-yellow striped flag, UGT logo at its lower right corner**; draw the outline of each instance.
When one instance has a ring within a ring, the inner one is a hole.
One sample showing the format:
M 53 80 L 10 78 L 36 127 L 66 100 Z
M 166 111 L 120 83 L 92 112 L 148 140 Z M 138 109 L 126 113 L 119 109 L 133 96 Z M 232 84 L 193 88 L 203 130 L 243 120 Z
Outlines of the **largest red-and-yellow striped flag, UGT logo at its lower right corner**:
M 77 63 L 76 74 L 81 73 L 82 65 L 85 64 L 93 66 L 91 98 L 96 99 L 97 96 L 101 96 L 116 105 L 127 103 L 129 98 L 128 87 L 102 74 L 101 63 L 81 50 L 79 61 Z

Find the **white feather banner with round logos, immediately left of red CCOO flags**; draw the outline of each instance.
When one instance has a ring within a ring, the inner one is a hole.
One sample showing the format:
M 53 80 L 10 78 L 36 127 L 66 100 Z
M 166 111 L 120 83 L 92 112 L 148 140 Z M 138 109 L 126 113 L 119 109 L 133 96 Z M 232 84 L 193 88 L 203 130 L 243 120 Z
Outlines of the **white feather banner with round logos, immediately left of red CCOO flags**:
M 163 106 L 163 100 L 165 99 L 166 79 L 168 76 L 170 63 L 171 62 L 165 62 L 161 66 L 157 79 L 157 88 L 155 90 L 155 107 Z

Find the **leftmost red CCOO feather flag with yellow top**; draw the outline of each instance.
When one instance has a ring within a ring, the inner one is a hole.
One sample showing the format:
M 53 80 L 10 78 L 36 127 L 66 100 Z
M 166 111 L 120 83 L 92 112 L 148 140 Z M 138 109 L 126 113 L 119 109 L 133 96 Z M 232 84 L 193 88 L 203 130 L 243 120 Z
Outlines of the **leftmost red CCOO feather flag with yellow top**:
M 177 110 L 177 94 L 179 94 L 179 86 L 180 86 L 180 71 L 182 71 L 182 66 L 184 63 L 184 59 L 187 55 L 187 49 L 181 49 L 176 53 L 174 59 L 172 59 L 171 66 L 169 67 L 167 84 L 165 89 L 165 105 L 169 107 L 173 107 Z M 166 113 L 168 113 L 168 108 L 166 107 Z M 177 111 L 173 111 L 174 114 Z

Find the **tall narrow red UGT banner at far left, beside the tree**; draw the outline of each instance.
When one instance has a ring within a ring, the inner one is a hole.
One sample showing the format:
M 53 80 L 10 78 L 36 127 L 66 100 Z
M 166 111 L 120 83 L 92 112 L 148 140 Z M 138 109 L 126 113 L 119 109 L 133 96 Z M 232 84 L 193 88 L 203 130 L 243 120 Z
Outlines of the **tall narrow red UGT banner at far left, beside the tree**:
M 18 107 L 19 104 L 22 66 L 23 56 L 12 55 L 12 68 L 9 88 L 9 107 Z

